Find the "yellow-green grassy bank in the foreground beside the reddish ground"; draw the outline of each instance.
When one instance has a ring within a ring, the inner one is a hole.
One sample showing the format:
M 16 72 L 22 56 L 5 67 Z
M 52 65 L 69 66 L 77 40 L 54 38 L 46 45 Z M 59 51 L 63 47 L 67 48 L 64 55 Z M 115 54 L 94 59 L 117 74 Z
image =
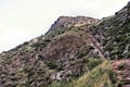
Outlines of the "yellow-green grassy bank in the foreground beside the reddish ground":
M 104 61 L 78 79 L 67 82 L 54 82 L 51 87 L 117 87 L 116 74 L 110 62 Z

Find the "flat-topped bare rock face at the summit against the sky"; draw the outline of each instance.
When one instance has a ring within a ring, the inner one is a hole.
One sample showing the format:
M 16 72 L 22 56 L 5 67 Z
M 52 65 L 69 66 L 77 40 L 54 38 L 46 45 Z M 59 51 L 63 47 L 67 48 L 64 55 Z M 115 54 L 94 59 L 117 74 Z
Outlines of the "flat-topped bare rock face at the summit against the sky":
M 60 27 L 70 27 L 70 26 L 82 26 L 86 24 L 93 24 L 99 22 L 98 18 L 86 17 L 86 16 L 61 16 L 55 21 L 55 23 L 51 26 L 50 30 L 57 29 Z

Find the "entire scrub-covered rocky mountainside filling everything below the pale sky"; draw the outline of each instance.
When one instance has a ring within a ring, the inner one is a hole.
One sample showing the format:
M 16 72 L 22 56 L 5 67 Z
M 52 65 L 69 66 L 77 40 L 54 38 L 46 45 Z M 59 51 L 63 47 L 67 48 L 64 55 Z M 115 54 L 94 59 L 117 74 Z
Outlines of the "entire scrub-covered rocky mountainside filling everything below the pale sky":
M 130 2 L 103 20 L 61 16 L 46 35 L 0 53 L 0 87 L 130 87 L 129 42 Z

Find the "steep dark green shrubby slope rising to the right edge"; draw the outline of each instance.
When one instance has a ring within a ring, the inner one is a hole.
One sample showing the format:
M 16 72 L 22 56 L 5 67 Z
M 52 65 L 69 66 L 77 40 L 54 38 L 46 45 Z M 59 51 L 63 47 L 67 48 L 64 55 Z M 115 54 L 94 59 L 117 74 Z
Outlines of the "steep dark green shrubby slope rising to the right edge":
M 130 58 L 130 2 L 93 27 L 93 36 L 110 59 Z

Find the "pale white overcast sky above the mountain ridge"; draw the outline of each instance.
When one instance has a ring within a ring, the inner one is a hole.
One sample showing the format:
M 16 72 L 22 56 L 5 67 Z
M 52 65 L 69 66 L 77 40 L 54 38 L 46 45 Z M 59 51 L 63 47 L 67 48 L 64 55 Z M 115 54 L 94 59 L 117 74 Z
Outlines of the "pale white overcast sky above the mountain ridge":
M 44 34 L 61 15 L 104 17 L 129 0 L 0 0 L 0 52 Z

